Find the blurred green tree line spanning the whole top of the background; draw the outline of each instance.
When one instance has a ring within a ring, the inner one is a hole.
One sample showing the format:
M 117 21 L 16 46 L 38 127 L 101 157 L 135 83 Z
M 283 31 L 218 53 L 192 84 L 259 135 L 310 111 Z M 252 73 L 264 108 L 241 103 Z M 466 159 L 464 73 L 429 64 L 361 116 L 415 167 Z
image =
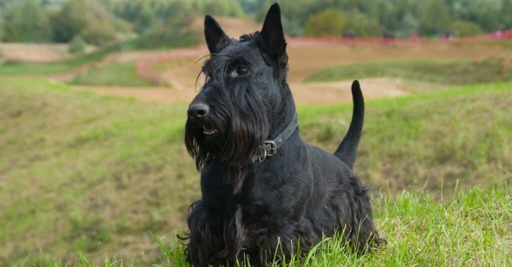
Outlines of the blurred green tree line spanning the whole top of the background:
M 188 25 L 212 14 L 262 21 L 275 0 L 0 0 L 0 40 L 104 45 L 139 38 L 195 42 Z M 456 36 L 512 26 L 512 0 L 282 0 L 283 26 L 299 36 Z M 178 38 L 179 37 L 179 38 Z

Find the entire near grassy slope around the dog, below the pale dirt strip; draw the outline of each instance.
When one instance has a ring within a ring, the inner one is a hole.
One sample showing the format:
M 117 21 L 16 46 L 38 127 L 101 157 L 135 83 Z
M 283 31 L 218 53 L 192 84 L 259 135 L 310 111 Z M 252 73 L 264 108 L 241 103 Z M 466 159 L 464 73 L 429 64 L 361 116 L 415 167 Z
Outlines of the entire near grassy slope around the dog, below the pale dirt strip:
M 311 262 L 510 264 L 511 93 L 507 82 L 368 101 L 355 171 L 376 189 L 390 246 L 355 258 L 327 241 Z M 182 141 L 186 104 L 12 76 L 0 76 L 0 96 L 0 265 L 182 260 L 168 242 L 200 192 Z M 303 139 L 333 151 L 351 105 L 298 113 Z M 150 233 L 165 236 L 163 253 Z

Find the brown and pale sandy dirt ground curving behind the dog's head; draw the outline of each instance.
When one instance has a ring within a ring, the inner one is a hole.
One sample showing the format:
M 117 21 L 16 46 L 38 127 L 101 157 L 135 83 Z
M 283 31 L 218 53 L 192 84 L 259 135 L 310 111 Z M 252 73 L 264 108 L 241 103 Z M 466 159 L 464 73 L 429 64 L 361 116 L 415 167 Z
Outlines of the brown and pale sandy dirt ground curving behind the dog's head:
M 253 25 L 257 28 L 258 25 Z M 235 31 L 237 29 L 231 30 Z M 236 36 L 236 35 L 235 35 Z M 290 72 L 288 81 L 298 104 L 335 104 L 351 101 L 350 82 L 304 83 L 304 79 L 328 66 L 374 60 L 400 60 L 420 58 L 470 58 L 482 59 L 496 55 L 512 57 L 512 50 L 500 46 L 488 46 L 479 43 L 457 43 L 441 40 L 391 41 L 365 39 L 346 41 L 339 38 L 288 38 Z M 110 62 L 135 61 L 137 75 L 160 84 L 172 84 L 164 87 L 106 87 L 74 86 L 78 90 L 87 90 L 98 94 L 135 97 L 146 101 L 188 102 L 196 95 L 196 78 L 200 71 L 202 56 L 208 51 L 204 44 L 175 50 L 120 52 L 106 56 L 94 64 L 80 66 L 73 71 L 52 75 L 54 81 L 63 81 L 87 70 L 91 66 L 100 66 Z M 354 79 L 359 77 L 354 77 Z M 197 90 L 201 87 L 201 79 Z M 361 87 L 367 99 L 392 97 L 416 91 L 415 86 L 404 86 L 399 80 L 391 78 L 362 79 Z

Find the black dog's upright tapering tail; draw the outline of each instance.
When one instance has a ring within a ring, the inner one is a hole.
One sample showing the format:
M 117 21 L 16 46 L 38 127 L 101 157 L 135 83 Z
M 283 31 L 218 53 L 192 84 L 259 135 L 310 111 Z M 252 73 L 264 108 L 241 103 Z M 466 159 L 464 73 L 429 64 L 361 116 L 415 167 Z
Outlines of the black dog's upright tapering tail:
M 359 81 L 352 82 L 352 101 L 354 102 L 354 109 L 352 111 L 352 121 L 347 135 L 334 155 L 345 162 L 351 169 L 354 166 L 355 156 L 357 154 L 357 146 L 361 139 L 362 124 L 365 119 L 365 100 L 362 98 L 361 87 Z

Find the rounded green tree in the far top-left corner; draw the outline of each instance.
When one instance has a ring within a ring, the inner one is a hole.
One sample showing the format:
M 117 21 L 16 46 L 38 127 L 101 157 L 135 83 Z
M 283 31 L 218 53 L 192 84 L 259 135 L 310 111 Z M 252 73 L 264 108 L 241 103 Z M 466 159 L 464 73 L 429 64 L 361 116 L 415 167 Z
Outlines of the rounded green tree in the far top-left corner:
M 7 6 L 3 16 L 3 41 L 44 42 L 50 38 L 48 15 L 34 0 L 23 0 Z

